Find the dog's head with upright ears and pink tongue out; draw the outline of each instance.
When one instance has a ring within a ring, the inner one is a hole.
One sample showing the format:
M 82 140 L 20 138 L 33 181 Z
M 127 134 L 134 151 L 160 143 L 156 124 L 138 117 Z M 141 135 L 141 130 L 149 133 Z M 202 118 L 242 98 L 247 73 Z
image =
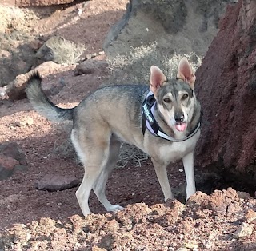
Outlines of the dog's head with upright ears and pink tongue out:
M 158 103 L 158 110 L 167 125 L 175 132 L 185 132 L 194 114 L 195 75 L 186 58 L 178 64 L 177 79 L 167 80 L 157 66 L 150 68 L 150 90 Z

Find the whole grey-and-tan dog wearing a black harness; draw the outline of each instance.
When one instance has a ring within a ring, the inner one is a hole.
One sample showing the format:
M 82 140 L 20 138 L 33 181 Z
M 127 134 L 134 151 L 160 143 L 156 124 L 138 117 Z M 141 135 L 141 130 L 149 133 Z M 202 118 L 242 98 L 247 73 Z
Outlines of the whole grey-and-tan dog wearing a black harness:
M 165 201 L 173 199 L 166 167 L 183 161 L 186 199 L 196 192 L 194 148 L 200 135 L 201 106 L 194 93 L 195 75 L 187 58 L 178 64 L 177 78 L 168 80 L 150 67 L 150 85 L 105 86 L 71 109 L 62 109 L 43 93 L 35 72 L 26 85 L 34 110 L 53 122 L 73 121 L 71 140 L 85 173 L 76 197 L 83 215 L 93 189 L 107 211 L 122 210 L 106 198 L 106 182 L 118 161 L 122 142 L 151 157 Z

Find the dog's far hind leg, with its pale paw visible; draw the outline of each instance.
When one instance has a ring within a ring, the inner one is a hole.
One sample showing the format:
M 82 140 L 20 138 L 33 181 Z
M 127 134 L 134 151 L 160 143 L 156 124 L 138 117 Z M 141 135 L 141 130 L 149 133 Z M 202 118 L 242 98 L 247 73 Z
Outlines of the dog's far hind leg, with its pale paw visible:
M 107 211 L 117 211 L 122 210 L 122 206 L 120 205 L 112 205 L 110 201 L 106 198 L 106 182 L 114 166 L 118 161 L 118 155 L 120 150 L 121 143 L 116 139 L 112 138 L 110 141 L 110 155 L 109 159 L 106 163 L 106 167 L 102 169 L 102 173 L 98 177 L 98 180 L 95 182 L 94 185 L 94 193 L 98 197 L 98 200 L 104 205 Z

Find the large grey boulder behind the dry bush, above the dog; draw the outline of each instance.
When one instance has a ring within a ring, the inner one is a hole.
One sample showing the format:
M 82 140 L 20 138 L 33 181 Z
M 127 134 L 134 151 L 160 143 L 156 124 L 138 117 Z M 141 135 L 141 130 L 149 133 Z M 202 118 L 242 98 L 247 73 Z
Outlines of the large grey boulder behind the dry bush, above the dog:
M 204 55 L 228 2 L 234 0 L 134 0 L 110 29 L 104 50 L 113 56 L 156 41 L 166 54 Z

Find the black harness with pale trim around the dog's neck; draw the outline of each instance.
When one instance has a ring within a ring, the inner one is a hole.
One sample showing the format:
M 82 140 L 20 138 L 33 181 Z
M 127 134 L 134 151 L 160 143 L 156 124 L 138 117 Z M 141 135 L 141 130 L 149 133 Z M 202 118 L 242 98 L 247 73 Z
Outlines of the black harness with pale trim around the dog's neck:
M 186 136 L 185 138 L 182 139 L 175 139 L 174 137 L 170 137 L 166 135 L 158 125 L 158 122 L 156 122 L 153 111 L 156 106 L 156 101 L 154 98 L 154 94 L 150 91 L 142 103 L 142 133 L 143 135 L 145 134 L 146 129 L 150 131 L 151 134 L 154 136 L 162 137 L 166 139 L 167 141 L 172 141 L 172 142 L 180 142 L 180 141 L 186 141 L 190 137 L 193 137 L 195 133 L 198 132 L 198 129 L 200 129 L 200 120 L 198 124 L 194 127 L 192 132 Z

